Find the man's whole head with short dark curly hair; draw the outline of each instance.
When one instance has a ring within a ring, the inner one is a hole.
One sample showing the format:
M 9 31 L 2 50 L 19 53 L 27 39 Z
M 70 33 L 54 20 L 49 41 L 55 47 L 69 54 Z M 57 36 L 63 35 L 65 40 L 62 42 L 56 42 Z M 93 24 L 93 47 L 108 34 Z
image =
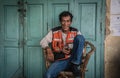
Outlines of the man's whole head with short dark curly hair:
M 69 31 L 69 27 L 72 23 L 73 15 L 69 11 L 63 11 L 59 15 L 59 21 L 62 26 L 62 30 L 67 32 Z

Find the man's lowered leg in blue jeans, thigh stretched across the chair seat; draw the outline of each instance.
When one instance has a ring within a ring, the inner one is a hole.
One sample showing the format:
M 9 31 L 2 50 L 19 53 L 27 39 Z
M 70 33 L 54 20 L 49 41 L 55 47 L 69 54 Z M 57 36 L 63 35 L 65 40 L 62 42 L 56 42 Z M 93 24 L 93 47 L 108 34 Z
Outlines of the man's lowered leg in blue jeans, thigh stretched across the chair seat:
M 55 61 L 47 70 L 44 78 L 57 78 L 58 74 L 68 67 L 69 59 Z

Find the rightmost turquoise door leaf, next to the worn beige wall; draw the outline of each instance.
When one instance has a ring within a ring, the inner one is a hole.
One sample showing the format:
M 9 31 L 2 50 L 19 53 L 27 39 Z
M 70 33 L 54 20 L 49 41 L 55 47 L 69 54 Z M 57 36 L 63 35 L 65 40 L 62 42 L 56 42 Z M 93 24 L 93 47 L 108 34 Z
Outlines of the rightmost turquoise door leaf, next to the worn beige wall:
M 100 29 L 101 23 L 101 0 L 75 0 L 76 13 L 74 14 L 76 20 L 74 25 L 82 32 L 85 39 L 92 42 L 96 51 L 90 58 L 88 63 L 88 72 L 86 78 L 101 78 L 101 39 L 102 31 Z M 89 47 L 88 47 L 89 49 Z

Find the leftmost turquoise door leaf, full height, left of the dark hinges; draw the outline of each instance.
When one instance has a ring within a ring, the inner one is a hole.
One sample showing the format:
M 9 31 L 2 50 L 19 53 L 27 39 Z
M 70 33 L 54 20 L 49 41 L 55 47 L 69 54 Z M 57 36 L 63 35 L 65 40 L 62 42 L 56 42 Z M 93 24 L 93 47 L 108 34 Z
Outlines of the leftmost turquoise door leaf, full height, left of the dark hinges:
M 17 0 L 0 1 L 0 78 L 22 75 L 23 48 Z

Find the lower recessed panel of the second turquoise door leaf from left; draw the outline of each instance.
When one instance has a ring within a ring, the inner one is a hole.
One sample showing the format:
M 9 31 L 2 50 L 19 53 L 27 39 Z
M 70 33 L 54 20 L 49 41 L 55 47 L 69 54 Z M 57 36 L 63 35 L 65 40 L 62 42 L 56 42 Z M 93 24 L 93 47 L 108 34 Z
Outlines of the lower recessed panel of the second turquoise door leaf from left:
M 39 78 L 43 76 L 43 58 L 40 47 L 28 46 L 25 52 L 25 77 L 26 78 Z M 27 55 L 26 55 L 27 54 Z

